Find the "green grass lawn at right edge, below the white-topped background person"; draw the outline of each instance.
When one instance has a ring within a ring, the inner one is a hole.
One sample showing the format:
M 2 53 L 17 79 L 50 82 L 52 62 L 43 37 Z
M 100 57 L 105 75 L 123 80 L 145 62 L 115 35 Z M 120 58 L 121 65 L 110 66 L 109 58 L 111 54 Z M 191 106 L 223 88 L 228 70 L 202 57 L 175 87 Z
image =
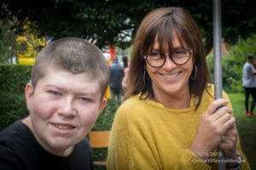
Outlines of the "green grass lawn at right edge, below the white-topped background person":
M 236 116 L 236 127 L 241 139 L 241 147 L 250 163 L 251 169 L 256 169 L 256 116 L 245 114 L 244 94 L 228 94 Z M 256 115 L 256 107 L 254 108 Z

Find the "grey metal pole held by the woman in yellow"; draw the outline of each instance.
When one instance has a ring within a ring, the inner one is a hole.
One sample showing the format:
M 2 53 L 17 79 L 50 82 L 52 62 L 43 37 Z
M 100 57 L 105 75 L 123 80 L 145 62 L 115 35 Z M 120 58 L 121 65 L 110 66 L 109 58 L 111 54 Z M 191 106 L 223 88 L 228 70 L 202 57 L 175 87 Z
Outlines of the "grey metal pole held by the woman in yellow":
M 221 65 L 221 0 L 213 0 L 213 57 L 215 99 L 222 98 L 222 65 Z M 224 153 L 218 150 L 218 169 L 225 170 Z

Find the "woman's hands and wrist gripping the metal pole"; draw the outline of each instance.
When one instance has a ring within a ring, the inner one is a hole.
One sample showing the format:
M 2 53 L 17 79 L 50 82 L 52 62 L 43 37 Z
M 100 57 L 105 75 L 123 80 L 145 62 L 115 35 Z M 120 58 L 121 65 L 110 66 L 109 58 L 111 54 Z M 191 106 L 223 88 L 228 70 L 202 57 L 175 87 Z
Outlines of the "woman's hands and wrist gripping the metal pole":
M 207 153 L 218 148 L 224 135 L 229 137 L 229 144 L 222 145 L 222 147 L 226 150 L 226 154 L 232 155 L 230 143 L 231 138 L 233 141 L 233 137 L 231 137 L 233 133 L 231 134 L 230 129 L 234 127 L 236 119 L 232 116 L 231 109 L 226 106 L 228 104 L 229 101 L 226 99 L 217 99 L 208 106 L 207 111 L 201 116 L 195 139 L 190 147 L 190 150 L 197 156 L 199 156 L 198 153 L 204 153 L 201 154 L 201 159 L 207 159 L 209 157 Z

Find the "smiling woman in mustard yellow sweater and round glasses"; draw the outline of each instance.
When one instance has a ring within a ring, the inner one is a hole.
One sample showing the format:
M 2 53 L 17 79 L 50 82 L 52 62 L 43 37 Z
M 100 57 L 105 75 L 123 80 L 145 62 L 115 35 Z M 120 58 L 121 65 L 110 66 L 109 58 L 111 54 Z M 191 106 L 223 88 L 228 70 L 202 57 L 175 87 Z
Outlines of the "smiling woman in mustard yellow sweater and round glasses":
M 137 30 L 126 100 L 113 122 L 108 169 L 248 169 L 227 95 L 214 99 L 195 20 L 157 8 Z

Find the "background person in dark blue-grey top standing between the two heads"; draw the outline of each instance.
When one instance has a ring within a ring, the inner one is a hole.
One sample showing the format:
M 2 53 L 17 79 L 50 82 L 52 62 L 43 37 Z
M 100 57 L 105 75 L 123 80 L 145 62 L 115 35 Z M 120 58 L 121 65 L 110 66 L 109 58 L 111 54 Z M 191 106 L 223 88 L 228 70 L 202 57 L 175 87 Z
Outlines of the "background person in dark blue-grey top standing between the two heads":
M 116 99 L 118 105 L 121 103 L 122 96 L 122 80 L 124 77 L 124 67 L 119 63 L 119 58 L 115 56 L 113 62 L 109 65 L 110 71 L 110 95 L 111 99 Z

